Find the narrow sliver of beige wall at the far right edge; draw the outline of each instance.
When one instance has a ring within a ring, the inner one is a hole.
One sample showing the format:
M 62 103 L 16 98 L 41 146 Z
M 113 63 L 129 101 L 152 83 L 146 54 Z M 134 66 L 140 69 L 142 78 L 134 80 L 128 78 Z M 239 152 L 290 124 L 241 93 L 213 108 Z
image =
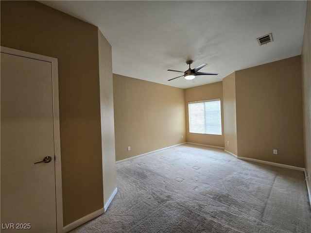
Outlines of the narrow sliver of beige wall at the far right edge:
M 303 115 L 305 138 L 305 165 L 307 175 L 311 173 L 311 1 L 307 1 L 305 33 L 301 54 L 303 80 Z M 311 179 L 309 178 L 311 187 Z

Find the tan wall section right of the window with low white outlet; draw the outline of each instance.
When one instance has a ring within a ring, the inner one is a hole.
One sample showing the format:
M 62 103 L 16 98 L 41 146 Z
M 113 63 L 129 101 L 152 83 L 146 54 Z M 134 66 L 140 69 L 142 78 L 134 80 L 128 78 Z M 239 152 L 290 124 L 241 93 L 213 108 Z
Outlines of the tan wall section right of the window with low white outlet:
M 238 156 L 304 167 L 300 56 L 236 71 L 235 79 Z

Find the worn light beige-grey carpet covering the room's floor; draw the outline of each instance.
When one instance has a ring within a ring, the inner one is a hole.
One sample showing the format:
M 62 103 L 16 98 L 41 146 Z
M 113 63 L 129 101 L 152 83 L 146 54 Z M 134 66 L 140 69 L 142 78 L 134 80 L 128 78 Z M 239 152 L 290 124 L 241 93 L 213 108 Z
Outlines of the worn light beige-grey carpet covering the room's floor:
M 117 164 L 107 212 L 71 233 L 311 233 L 304 173 L 185 144 Z

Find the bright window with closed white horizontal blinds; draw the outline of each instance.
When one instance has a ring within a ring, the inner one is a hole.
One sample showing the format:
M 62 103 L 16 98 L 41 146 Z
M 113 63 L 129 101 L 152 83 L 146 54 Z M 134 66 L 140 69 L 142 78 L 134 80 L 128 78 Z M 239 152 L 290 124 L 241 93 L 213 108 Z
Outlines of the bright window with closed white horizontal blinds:
M 188 103 L 189 132 L 222 135 L 220 99 Z

